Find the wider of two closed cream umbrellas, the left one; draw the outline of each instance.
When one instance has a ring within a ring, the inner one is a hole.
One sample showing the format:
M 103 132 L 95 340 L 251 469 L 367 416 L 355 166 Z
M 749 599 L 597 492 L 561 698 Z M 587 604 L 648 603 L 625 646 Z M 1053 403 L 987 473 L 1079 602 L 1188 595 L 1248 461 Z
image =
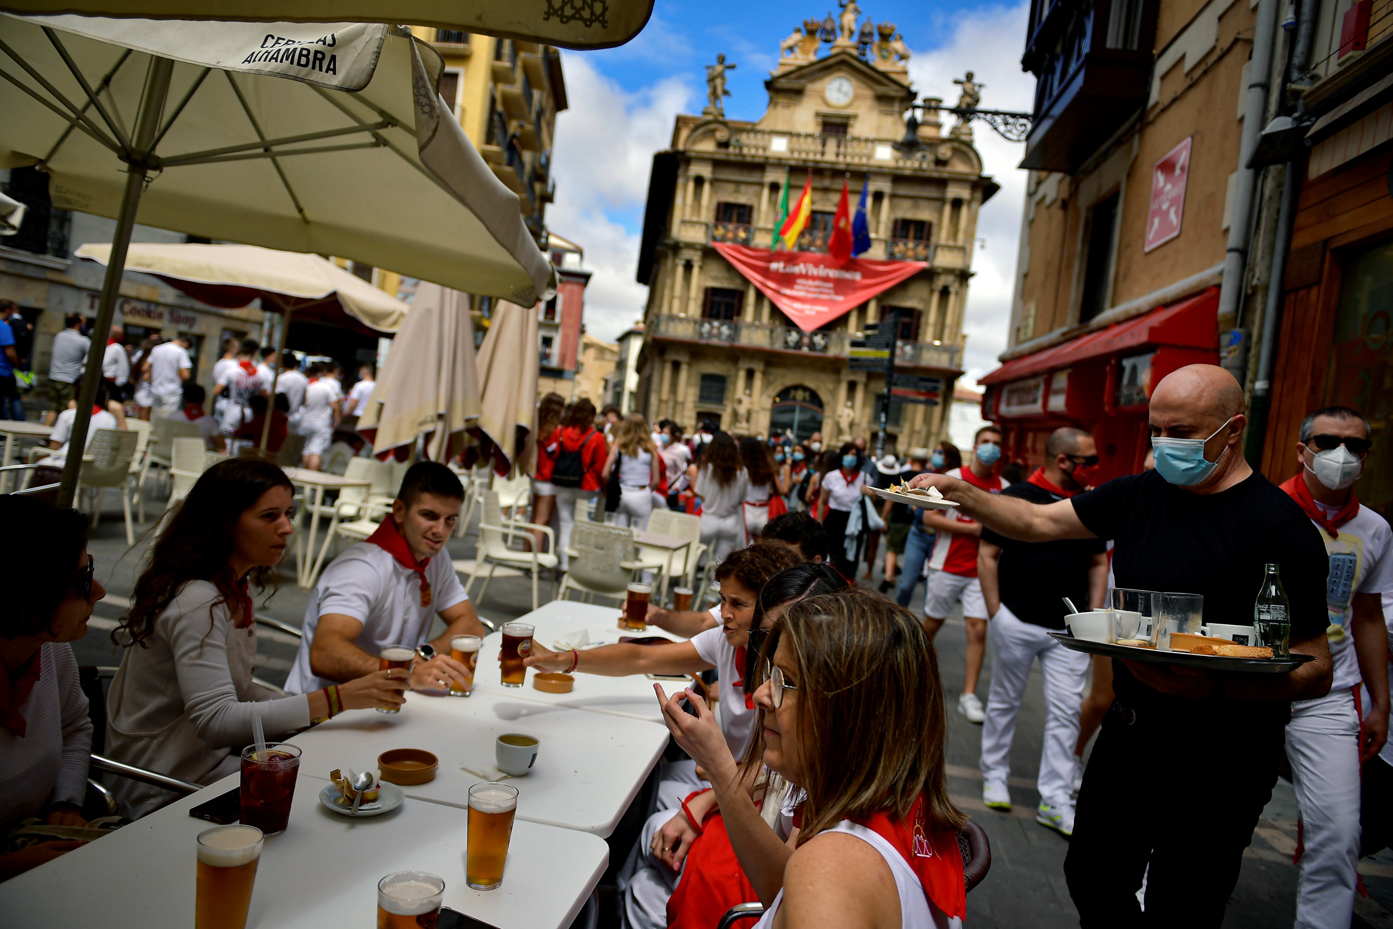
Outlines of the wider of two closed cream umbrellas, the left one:
M 358 433 L 379 458 L 405 460 L 428 435 L 426 453 L 449 461 L 465 444 L 465 428 L 479 415 L 469 298 L 422 283 L 401 331 L 358 418 Z

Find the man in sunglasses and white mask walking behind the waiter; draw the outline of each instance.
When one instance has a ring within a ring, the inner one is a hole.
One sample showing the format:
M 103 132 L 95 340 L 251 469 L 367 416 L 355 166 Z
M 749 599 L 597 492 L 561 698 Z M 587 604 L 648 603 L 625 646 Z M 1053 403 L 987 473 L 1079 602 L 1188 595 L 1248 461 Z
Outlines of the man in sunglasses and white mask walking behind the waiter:
M 1287 724 L 1304 845 L 1295 925 L 1344 929 L 1358 880 L 1360 767 L 1379 754 L 1389 730 L 1380 599 L 1393 592 L 1393 531 L 1354 496 L 1371 447 L 1362 415 L 1347 407 L 1318 409 L 1301 423 L 1300 439 L 1300 471 L 1282 489 L 1321 529 L 1330 560 L 1326 639 L 1334 677 L 1325 696 L 1293 703 Z

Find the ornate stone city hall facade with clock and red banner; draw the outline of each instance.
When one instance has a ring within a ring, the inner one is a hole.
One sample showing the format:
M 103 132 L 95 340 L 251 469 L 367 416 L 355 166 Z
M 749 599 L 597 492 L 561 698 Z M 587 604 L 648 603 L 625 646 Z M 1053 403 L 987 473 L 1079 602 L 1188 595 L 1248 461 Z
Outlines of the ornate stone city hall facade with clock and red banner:
M 937 405 L 892 400 L 887 448 L 947 436 L 976 216 L 997 185 L 970 124 L 942 124 L 940 99 L 925 97 L 907 128 L 910 50 L 893 24 L 858 28 L 858 13 L 847 4 L 840 22 L 809 19 L 780 42 L 755 123 L 724 117 L 738 63 L 719 58 L 705 111 L 678 116 L 655 156 L 638 262 L 649 287 L 638 408 L 651 419 L 873 439 L 885 375 L 854 370 L 850 351 L 894 309 L 896 373 L 943 390 Z M 957 84 L 958 106 L 975 107 L 981 85 L 971 74 Z M 795 214 L 811 188 L 811 214 L 793 249 L 770 251 L 786 184 Z M 843 184 L 851 216 L 865 188 L 869 242 L 839 262 L 827 247 Z

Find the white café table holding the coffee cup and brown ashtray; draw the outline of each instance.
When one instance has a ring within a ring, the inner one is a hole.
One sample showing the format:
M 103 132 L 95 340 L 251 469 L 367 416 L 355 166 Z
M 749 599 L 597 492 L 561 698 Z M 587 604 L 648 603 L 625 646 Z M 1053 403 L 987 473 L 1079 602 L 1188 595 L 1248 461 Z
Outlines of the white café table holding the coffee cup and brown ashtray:
M 391 748 L 421 748 L 440 759 L 435 780 L 405 786 L 407 797 L 468 806 L 471 784 L 497 780 L 499 735 L 535 737 L 539 752 L 518 788 L 518 819 L 609 836 L 667 745 L 667 728 L 637 719 L 550 706 L 511 695 L 408 694 L 397 715 L 350 710 L 293 737 L 304 751 L 299 776 L 327 781 L 336 767 L 371 770 Z

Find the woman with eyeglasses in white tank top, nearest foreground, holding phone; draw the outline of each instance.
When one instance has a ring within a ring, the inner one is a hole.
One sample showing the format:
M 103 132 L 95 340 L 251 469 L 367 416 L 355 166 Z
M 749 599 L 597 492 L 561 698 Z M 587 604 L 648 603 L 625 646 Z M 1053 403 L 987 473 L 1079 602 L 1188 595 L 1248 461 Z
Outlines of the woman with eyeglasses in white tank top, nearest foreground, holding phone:
M 738 763 L 701 696 L 655 688 L 677 744 L 708 772 L 736 857 L 766 907 L 756 929 L 961 921 L 956 833 L 967 818 L 949 801 L 939 669 L 915 617 L 864 591 L 809 598 L 779 617 L 761 666 L 759 727 Z M 787 843 L 744 790 L 761 767 L 807 794 Z

